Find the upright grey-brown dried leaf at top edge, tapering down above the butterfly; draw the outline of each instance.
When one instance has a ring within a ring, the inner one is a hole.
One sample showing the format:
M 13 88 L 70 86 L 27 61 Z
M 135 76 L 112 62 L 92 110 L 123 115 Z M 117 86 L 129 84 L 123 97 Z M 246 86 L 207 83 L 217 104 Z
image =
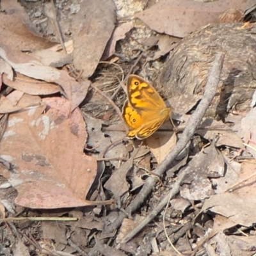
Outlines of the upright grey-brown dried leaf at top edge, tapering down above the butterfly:
M 92 76 L 115 28 L 115 4 L 112 0 L 87 0 L 72 20 L 74 64 Z

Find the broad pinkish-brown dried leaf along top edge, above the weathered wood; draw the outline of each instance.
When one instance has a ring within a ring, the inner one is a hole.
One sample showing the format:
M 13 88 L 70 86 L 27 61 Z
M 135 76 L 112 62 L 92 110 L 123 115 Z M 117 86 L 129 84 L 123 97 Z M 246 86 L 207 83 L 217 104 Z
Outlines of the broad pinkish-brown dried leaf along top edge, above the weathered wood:
M 158 33 L 184 37 L 196 28 L 217 23 L 221 13 L 230 8 L 247 10 L 255 3 L 250 1 L 222 0 L 211 3 L 183 0 L 162 0 L 135 15 Z

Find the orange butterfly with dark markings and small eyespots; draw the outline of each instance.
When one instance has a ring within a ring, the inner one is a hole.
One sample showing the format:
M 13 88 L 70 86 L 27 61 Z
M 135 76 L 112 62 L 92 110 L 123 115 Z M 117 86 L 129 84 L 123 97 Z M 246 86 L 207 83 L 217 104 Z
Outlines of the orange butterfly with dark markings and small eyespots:
M 128 77 L 127 98 L 122 116 L 129 127 L 129 138 L 147 138 L 172 115 L 172 108 L 168 108 L 154 87 L 140 76 Z

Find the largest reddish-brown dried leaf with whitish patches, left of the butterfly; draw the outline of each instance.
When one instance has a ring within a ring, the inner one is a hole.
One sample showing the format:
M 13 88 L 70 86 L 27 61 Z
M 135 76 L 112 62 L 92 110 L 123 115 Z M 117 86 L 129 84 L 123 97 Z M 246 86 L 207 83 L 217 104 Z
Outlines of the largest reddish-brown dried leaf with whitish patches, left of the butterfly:
M 1 157 L 13 164 L 13 170 L 2 168 L 1 174 L 17 189 L 15 202 L 24 207 L 90 205 L 84 198 L 97 163 L 83 153 L 83 117 L 78 110 L 70 114 L 70 104 L 64 98 L 45 98 L 44 102 L 46 109 L 42 105 L 10 115 Z

